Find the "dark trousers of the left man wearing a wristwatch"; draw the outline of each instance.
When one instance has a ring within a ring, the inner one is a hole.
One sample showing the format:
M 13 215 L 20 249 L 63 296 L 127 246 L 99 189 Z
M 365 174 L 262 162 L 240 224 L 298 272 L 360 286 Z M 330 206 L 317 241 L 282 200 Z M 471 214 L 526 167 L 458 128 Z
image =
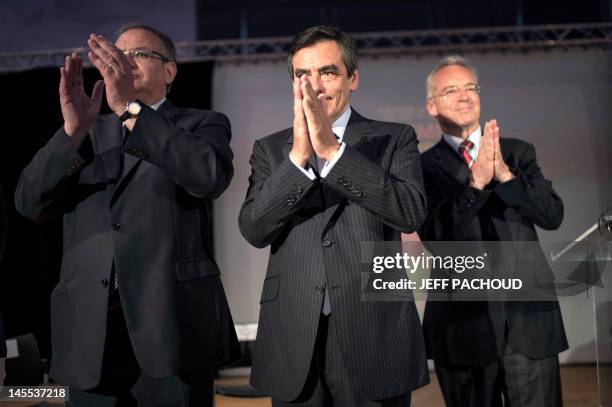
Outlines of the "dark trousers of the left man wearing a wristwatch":
M 70 392 L 70 407 L 213 406 L 214 370 L 156 378 L 140 371 L 117 290 L 111 289 L 100 383 Z

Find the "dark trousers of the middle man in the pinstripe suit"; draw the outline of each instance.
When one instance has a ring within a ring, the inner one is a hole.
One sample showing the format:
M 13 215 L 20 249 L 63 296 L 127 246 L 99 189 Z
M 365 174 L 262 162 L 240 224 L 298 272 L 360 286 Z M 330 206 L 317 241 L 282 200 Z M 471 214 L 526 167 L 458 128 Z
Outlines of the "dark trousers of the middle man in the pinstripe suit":
M 300 396 L 289 402 L 273 398 L 272 407 L 410 407 L 410 393 L 379 401 L 355 398 L 333 318 L 333 312 L 328 316 L 321 314 L 310 370 Z

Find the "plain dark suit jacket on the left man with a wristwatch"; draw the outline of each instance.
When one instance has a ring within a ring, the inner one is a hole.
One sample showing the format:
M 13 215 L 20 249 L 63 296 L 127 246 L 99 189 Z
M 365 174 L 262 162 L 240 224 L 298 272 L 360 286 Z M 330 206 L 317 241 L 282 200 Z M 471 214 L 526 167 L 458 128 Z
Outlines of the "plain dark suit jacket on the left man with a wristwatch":
M 51 297 L 55 380 L 77 389 L 99 381 L 113 262 L 144 372 L 171 376 L 237 355 L 211 236 L 211 200 L 233 175 L 230 134 L 224 115 L 166 101 L 143 108 L 124 155 L 121 123 L 105 115 L 79 151 L 60 129 L 25 168 L 19 212 L 63 216 Z

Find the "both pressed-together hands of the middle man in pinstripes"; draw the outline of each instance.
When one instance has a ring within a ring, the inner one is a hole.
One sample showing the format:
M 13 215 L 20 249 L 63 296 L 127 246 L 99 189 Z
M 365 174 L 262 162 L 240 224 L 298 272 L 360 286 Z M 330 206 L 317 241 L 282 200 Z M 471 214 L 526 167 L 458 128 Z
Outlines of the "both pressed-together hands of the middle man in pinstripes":
M 317 95 L 308 76 L 293 80 L 293 147 L 289 157 L 303 168 L 313 154 L 330 161 L 340 149 L 324 98 L 325 94 Z

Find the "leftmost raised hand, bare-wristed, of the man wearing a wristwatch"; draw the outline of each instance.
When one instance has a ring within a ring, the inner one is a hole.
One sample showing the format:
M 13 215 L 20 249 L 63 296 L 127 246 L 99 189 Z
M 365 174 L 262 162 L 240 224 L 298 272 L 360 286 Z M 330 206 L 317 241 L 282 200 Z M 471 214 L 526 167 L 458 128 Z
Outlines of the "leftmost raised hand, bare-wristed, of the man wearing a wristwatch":
M 91 97 L 83 86 L 83 60 L 77 53 L 66 57 L 60 68 L 60 107 L 64 117 L 64 131 L 75 145 L 81 143 L 100 113 L 104 82 L 97 81 Z

